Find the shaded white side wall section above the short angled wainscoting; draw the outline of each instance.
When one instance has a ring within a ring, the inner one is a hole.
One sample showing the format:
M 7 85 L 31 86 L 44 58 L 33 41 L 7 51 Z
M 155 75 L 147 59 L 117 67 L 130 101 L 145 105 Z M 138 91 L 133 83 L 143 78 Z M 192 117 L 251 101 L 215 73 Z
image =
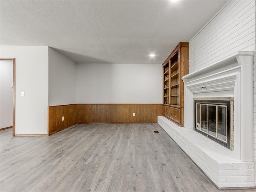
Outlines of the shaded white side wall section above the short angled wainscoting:
M 49 106 L 76 103 L 76 64 L 49 47 Z

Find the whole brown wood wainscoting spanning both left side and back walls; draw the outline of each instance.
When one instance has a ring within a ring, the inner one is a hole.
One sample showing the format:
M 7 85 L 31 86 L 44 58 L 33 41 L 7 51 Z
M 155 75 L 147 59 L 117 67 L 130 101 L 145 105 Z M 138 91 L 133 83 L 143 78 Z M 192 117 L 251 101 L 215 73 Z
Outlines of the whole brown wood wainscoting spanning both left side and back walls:
M 133 116 L 135 113 L 135 116 Z M 48 134 L 76 123 L 157 123 L 162 104 L 71 104 L 48 107 Z M 64 116 L 64 121 L 62 117 Z

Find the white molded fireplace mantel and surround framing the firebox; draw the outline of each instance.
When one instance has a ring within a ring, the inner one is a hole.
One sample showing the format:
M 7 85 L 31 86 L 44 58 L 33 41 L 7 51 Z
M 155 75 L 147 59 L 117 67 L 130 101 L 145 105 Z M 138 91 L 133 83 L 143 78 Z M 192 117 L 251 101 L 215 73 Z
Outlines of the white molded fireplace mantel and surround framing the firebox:
M 193 125 L 193 99 L 195 97 L 234 98 L 234 153 L 242 161 L 254 161 L 254 52 L 240 51 L 228 58 L 210 64 L 184 77 L 184 127 Z

